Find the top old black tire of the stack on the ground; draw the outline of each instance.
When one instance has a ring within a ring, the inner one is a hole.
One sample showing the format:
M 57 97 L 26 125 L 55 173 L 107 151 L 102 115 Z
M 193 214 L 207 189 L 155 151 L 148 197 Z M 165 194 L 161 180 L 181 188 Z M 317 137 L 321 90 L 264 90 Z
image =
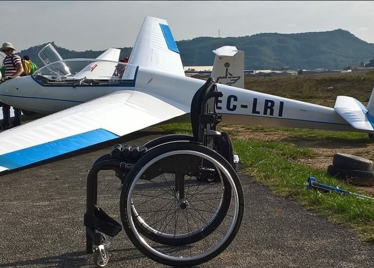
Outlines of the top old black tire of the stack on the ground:
M 336 153 L 332 164 L 338 168 L 373 171 L 371 160 L 346 153 Z

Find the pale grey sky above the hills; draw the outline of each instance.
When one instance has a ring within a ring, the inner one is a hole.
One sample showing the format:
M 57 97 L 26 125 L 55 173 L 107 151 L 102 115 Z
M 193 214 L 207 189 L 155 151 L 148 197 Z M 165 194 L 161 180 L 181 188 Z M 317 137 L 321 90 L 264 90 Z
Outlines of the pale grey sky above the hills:
M 147 16 L 166 19 L 176 41 L 343 29 L 374 43 L 374 1 L 18 0 L 0 9 L 0 44 L 17 51 L 52 41 L 75 51 L 133 47 Z

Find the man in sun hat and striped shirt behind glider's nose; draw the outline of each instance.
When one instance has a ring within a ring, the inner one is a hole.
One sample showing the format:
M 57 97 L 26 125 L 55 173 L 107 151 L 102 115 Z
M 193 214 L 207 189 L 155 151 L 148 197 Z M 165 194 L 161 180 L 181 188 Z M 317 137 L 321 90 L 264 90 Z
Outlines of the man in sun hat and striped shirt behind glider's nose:
M 21 57 L 16 54 L 16 49 L 13 47 L 11 43 L 4 43 L 0 48 L 0 51 L 3 52 L 6 57 L 4 59 L 4 66 L 5 66 L 5 76 L 4 81 L 16 78 L 23 73 L 22 61 Z M 4 82 L 6 83 L 6 82 Z M 10 106 L 8 104 L 2 104 L 2 124 L 0 125 L 0 129 L 9 129 L 21 124 L 21 109 L 13 107 L 14 109 L 14 119 L 13 125 L 10 124 Z

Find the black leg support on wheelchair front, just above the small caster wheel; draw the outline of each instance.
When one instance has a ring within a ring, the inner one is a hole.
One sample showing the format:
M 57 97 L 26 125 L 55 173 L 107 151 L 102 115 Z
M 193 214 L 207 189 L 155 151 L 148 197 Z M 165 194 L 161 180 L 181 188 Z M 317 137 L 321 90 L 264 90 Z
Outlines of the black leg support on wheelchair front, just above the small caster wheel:
M 95 206 L 94 215 L 87 213 L 84 214 L 84 226 L 96 229 L 99 232 L 110 236 L 115 236 L 122 230 L 120 223 L 115 221 L 97 206 Z

